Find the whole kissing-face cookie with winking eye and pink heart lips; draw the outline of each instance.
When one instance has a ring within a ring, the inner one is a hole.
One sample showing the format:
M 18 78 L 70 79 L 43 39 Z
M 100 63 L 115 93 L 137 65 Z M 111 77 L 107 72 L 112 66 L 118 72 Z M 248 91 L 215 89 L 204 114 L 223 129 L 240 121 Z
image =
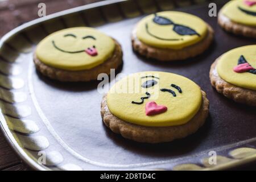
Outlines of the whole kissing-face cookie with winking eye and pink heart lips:
M 195 82 L 167 72 L 140 72 L 113 85 L 101 116 L 114 133 L 137 142 L 170 142 L 195 133 L 209 101 Z

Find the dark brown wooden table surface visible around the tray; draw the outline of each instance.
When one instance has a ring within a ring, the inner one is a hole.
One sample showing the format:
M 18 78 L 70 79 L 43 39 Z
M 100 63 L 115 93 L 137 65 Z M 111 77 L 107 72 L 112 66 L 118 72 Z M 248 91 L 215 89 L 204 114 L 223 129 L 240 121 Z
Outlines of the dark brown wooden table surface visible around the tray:
M 57 11 L 71 9 L 72 7 L 86 5 L 101 0 L 0 0 L 0 38 L 13 28 L 38 18 L 38 3 L 44 2 L 47 7 L 47 15 Z M 256 164 L 236 169 L 255 170 Z M 31 170 L 15 154 L 0 131 L 0 170 Z

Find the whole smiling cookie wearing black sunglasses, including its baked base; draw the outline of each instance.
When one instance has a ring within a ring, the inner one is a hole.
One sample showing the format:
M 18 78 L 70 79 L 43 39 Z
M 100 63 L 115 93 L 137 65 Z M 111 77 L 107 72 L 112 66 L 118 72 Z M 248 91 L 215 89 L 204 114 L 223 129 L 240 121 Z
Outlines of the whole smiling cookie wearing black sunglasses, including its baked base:
M 159 61 L 184 60 L 203 53 L 213 30 L 199 17 L 163 11 L 143 18 L 133 30 L 133 49 Z

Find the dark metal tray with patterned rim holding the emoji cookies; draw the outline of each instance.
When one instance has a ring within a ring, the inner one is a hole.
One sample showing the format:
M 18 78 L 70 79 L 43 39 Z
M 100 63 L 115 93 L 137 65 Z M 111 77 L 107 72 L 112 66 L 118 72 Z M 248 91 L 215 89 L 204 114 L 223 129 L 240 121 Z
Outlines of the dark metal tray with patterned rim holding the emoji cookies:
M 215 1 L 220 9 L 226 1 Z M 213 61 L 255 40 L 223 31 L 208 16 L 207 1 L 103 1 L 33 20 L 0 40 L 1 129 L 20 158 L 39 170 L 227 169 L 256 159 L 255 107 L 237 104 L 212 88 Z M 178 10 L 203 18 L 214 28 L 214 43 L 200 56 L 159 63 L 131 48 L 134 25 L 146 14 Z M 123 48 L 118 72 L 164 71 L 183 75 L 207 92 L 209 117 L 195 134 L 162 144 L 144 144 L 114 134 L 102 123 L 98 81 L 63 83 L 36 72 L 36 44 L 67 27 L 92 26 L 113 36 Z M 212 155 L 217 164 L 209 164 Z M 46 158 L 44 158 L 46 156 Z

